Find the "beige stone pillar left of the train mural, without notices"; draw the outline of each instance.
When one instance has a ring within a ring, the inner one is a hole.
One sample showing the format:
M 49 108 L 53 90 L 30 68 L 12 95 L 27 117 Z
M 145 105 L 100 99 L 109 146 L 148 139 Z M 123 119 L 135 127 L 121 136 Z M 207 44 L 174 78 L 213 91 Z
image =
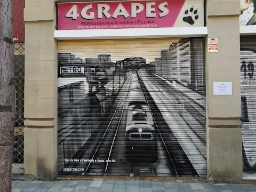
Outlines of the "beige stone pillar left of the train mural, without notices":
M 55 3 L 26 0 L 25 174 L 41 180 L 57 168 L 57 41 Z

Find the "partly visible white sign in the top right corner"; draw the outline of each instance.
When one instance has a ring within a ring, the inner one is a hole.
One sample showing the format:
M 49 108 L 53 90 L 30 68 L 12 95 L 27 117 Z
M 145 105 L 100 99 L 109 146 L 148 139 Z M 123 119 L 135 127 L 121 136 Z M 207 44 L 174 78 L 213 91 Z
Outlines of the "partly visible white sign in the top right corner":
M 241 15 L 239 17 L 241 26 L 256 25 L 256 1 L 255 0 L 240 0 Z

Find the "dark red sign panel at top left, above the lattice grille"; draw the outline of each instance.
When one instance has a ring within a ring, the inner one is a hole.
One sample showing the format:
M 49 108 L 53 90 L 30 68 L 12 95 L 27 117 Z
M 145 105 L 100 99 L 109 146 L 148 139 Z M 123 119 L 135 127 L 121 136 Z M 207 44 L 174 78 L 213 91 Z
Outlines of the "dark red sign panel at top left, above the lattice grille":
M 25 42 L 25 23 L 23 19 L 23 9 L 25 8 L 25 0 L 13 1 L 13 42 Z

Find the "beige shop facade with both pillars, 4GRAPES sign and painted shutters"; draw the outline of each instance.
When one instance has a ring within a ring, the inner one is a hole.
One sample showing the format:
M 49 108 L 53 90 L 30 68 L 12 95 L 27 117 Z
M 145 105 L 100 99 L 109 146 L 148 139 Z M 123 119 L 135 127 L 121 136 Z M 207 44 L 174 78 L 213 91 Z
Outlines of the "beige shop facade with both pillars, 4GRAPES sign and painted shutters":
M 25 174 L 241 182 L 253 3 L 26 0 Z

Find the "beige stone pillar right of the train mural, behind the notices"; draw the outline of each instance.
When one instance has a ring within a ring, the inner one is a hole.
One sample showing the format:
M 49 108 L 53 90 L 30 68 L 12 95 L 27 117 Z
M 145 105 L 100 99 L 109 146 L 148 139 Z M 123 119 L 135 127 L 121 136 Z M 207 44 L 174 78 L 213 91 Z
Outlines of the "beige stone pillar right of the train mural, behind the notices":
M 218 53 L 206 46 L 207 177 L 213 182 L 242 180 L 239 0 L 207 0 L 209 37 L 218 37 Z M 232 95 L 213 95 L 213 82 L 232 82 Z

